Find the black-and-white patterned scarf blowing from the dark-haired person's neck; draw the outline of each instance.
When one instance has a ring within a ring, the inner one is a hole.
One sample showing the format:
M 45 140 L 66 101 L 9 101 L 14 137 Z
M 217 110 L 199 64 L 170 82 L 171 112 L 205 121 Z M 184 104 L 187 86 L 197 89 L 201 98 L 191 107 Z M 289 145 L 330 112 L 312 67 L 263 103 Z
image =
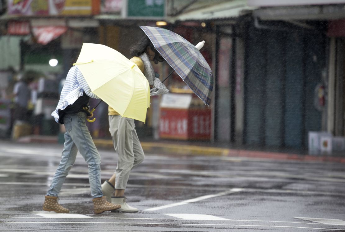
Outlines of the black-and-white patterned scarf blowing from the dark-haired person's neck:
M 152 89 L 150 89 L 150 96 L 168 93 L 169 90 L 167 89 L 167 87 L 160 81 L 159 78 L 155 77 L 155 70 L 153 69 L 153 66 L 147 54 L 144 52 L 139 57 L 142 59 L 142 62 L 144 63 L 144 75 L 146 79 L 148 80 L 151 86 L 154 86 Z

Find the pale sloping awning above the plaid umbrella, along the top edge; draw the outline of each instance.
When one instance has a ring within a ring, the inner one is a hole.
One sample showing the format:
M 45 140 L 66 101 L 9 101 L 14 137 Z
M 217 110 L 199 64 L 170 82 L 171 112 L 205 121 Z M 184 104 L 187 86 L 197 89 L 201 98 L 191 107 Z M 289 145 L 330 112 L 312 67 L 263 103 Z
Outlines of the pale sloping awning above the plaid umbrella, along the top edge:
M 244 11 L 256 9 L 256 7 L 249 7 L 245 0 L 219 2 L 218 4 L 213 1 L 207 1 L 207 4 L 204 1 L 197 1 L 193 7 L 195 10 L 186 10 L 173 17 L 173 21 L 236 18 Z

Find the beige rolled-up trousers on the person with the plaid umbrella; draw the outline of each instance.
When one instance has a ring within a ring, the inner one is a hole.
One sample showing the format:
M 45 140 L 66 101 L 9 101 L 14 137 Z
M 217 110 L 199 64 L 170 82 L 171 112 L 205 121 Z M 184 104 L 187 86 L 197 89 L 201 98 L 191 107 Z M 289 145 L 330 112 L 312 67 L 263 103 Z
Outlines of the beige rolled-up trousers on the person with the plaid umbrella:
M 134 119 L 109 115 L 109 132 L 118 154 L 115 189 L 126 189 L 131 170 L 145 157 L 135 131 Z

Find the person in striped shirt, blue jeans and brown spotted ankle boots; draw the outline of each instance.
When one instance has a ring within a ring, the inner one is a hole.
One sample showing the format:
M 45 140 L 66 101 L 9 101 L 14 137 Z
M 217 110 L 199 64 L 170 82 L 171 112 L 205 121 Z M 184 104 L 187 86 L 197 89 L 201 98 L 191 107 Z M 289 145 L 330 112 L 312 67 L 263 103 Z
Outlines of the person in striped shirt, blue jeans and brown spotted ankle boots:
M 76 161 L 78 150 L 88 164 L 95 214 L 120 208 L 120 205 L 109 203 L 101 190 L 101 157 L 85 123 L 87 117 L 93 117 L 93 114 L 88 111 L 90 97 L 98 98 L 91 92 L 78 66 L 73 66 L 67 74 L 58 106 L 51 114 L 56 122 L 65 124 L 66 133 L 61 161 L 45 196 L 43 210 L 69 213 L 68 209 L 59 205 L 58 194 L 69 170 Z

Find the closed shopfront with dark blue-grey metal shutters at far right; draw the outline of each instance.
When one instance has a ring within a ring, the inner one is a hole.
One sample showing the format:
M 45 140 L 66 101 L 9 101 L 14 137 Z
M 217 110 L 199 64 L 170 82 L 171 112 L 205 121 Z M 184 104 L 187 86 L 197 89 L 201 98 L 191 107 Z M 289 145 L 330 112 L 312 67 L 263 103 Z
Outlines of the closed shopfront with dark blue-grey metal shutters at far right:
M 326 36 L 328 22 L 344 17 L 339 3 L 248 1 L 262 8 L 246 38 L 247 144 L 306 148 L 309 131 L 341 134 L 343 86 L 336 83 L 343 76 L 335 60 L 342 41 Z

